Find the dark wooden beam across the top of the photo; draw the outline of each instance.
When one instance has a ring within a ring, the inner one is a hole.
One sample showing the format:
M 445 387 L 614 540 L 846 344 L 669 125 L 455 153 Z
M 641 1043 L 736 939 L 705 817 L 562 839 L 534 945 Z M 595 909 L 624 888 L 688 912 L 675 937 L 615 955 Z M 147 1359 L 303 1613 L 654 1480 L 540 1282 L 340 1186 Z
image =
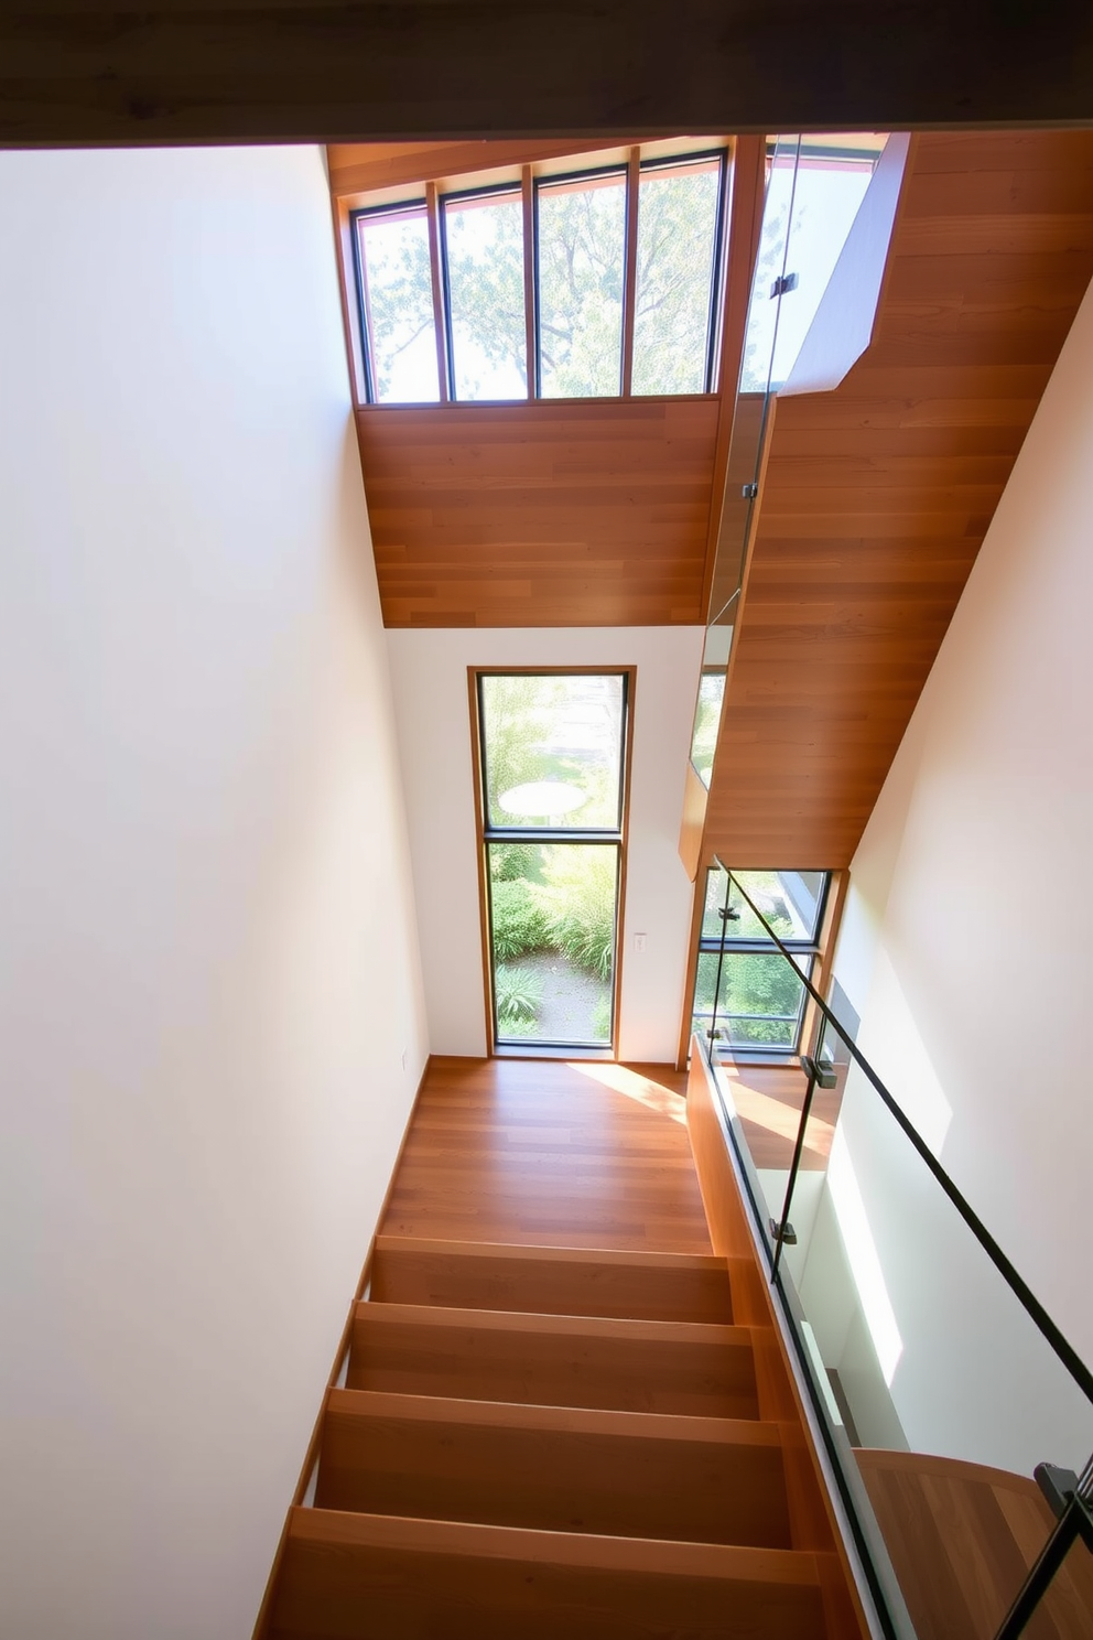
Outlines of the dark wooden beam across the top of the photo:
M 0 144 L 1093 123 L 1088 0 L 0 0 Z

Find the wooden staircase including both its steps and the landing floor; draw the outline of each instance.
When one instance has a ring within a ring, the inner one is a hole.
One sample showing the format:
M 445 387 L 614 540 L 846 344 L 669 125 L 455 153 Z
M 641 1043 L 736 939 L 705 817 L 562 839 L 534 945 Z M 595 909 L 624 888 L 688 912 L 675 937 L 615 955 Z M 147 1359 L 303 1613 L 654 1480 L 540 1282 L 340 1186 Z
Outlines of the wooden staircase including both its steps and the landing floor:
M 710 1087 L 649 1069 L 431 1063 L 256 1640 L 864 1640 Z

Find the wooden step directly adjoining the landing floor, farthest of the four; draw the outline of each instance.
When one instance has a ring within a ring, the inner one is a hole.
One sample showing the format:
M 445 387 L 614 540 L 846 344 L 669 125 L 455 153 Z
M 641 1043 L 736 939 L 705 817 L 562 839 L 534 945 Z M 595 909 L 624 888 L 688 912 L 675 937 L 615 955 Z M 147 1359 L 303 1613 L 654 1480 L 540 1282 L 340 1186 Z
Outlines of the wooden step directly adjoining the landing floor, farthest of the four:
M 374 1304 L 423 1304 L 541 1315 L 732 1322 L 724 1260 L 705 1253 L 619 1253 L 377 1237 Z

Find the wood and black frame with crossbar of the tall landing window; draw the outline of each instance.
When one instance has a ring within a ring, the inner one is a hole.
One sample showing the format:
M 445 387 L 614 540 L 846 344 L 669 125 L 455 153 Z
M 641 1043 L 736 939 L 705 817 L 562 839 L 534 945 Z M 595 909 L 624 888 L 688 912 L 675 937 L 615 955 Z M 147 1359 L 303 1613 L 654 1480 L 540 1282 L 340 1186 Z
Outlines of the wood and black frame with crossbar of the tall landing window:
M 483 677 L 621 677 L 623 720 L 619 746 L 619 815 L 616 828 L 605 827 L 495 827 L 488 820 L 485 712 L 482 704 Z M 629 838 L 629 790 L 634 751 L 634 695 L 636 666 L 469 666 L 467 690 L 470 700 L 470 761 L 475 804 L 475 843 L 478 858 L 478 920 L 482 935 L 482 982 L 485 1040 L 488 1058 L 588 1058 L 618 1059 L 619 1012 L 623 997 L 623 950 L 626 909 L 626 856 Z M 616 850 L 615 877 L 615 964 L 611 973 L 611 1030 L 603 1045 L 564 1043 L 536 1038 L 505 1040 L 497 1023 L 497 991 L 493 984 L 493 922 L 490 900 L 490 843 L 570 843 Z

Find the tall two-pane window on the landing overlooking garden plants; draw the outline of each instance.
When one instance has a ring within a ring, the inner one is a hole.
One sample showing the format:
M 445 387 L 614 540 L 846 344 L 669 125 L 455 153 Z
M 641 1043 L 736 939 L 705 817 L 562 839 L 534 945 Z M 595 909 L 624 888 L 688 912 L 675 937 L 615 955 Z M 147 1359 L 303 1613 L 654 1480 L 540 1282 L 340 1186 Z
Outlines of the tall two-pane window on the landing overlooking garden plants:
M 474 674 L 498 1048 L 616 1033 L 631 671 Z

